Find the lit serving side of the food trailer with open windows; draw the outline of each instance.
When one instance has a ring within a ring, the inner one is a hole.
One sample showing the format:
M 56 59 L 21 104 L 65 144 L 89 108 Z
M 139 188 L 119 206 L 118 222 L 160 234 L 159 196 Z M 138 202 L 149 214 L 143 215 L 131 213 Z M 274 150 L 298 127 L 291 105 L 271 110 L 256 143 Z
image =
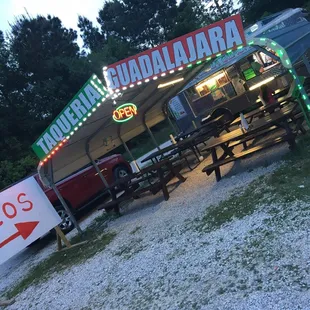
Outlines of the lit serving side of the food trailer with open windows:
M 194 114 L 198 116 L 206 110 L 253 91 L 262 81 L 269 83 L 286 74 L 288 75 L 288 71 L 279 62 L 256 51 L 186 89 L 185 95 Z M 285 86 L 282 85 L 283 81 L 280 83 L 279 86 Z

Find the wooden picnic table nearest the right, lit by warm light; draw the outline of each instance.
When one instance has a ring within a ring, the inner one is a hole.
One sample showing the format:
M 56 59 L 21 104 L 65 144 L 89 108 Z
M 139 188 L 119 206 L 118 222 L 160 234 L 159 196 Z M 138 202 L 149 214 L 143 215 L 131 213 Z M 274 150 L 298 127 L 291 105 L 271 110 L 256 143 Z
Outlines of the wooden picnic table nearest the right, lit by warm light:
M 289 143 L 290 148 L 293 148 L 295 146 L 296 133 L 302 123 L 302 119 L 295 122 L 293 113 L 294 107 L 288 107 L 254 121 L 249 131 L 238 128 L 218 138 L 210 139 L 202 151 L 211 151 L 213 163 L 204 167 L 202 171 L 207 173 L 207 175 L 214 171 L 216 180 L 220 181 L 220 166 L 222 165 L 285 141 Z M 288 119 L 292 119 L 296 123 L 295 131 L 290 128 Z M 260 145 L 250 148 L 246 145 L 246 142 L 261 137 L 275 128 L 284 128 L 285 134 L 270 140 L 264 140 Z M 234 148 L 240 144 L 244 144 L 245 149 L 240 153 L 234 153 Z M 223 150 L 221 156 L 218 156 L 217 153 L 219 148 Z

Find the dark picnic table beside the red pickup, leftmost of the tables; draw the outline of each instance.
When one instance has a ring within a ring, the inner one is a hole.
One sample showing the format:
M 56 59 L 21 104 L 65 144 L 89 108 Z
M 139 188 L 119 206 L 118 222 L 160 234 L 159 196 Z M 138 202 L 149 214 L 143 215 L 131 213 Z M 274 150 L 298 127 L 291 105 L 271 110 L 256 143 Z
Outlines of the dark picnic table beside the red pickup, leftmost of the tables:
M 131 198 L 137 199 L 142 193 L 150 191 L 152 194 L 158 193 L 160 190 L 163 192 L 165 200 L 169 199 L 169 192 L 167 189 L 168 182 L 176 177 L 180 182 L 185 182 L 180 173 L 181 167 L 169 159 L 164 159 L 160 162 L 152 164 L 146 168 L 141 169 L 137 173 L 130 174 L 121 178 L 111 184 L 106 191 L 110 191 L 112 197 L 111 201 L 103 204 L 98 208 L 101 209 L 114 209 L 116 213 L 120 213 L 119 204 Z M 146 186 L 143 183 L 147 183 Z M 121 194 L 118 196 L 118 192 Z

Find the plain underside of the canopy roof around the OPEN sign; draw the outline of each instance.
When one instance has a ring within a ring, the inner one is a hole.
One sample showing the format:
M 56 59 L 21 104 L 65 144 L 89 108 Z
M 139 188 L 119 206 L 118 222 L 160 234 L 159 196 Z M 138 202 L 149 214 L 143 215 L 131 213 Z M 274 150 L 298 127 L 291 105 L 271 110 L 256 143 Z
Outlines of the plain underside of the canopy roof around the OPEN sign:
M 190 81 L 203 67 L 204 65 L 201 64 L 190 70 L 177 71 L 166 78 L 129 89 L 121 97 L 117 97 L 115 100 L 118 106 L 124 103 L 134 103 L 137 106 L 137 116 L 128 122 L 116 123 L 112 119 L 113 110 L 115 110 L 114 100 L 106 100 L 87 119 L 83 127 L 68 140 L 62 150 L 53 156 L 55 182 L 89 164 L 90 161 L 86 154 L 88 139 L 90 140 L 90 154 L 92 158 L 96 159 L 121 145 L 122 141 L 119 136 L 126 142 L 144 132 L 144 118 L 149 128 L 163 121 L 166 117 L 164 105 L 180 91 L 184 83 Z M 180 83 L 158 88 L 159 84 L 180 78 L 184 79 Z

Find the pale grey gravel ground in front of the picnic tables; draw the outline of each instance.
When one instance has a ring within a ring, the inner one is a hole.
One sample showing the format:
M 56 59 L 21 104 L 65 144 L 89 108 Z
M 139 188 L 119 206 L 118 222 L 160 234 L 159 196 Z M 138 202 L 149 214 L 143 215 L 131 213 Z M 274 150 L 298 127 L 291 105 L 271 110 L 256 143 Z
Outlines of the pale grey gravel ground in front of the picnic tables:
M 193 228 L 210 205 L 276 169 L 280 163 L 267 166 L 266 158 L 273 162 L 286 150 L 226 165 L 219 183 L 201 165 L 184 173 L 185 183 L 170 184 L 168 202 L 161 193 L 135 200 L 110 222 L 117 236 L 105 251 L 29 287 L 8 309 L 310 309 L 309 220 L 298 216 L 301 203 L 291 206 L 291 226 L 270 220 L 268 210 L 281 208 L 275 205 L 210 233 Z M 267 238 L 270 231 L 277 238 Z M 272 252 L 268 262 L 264 251 Z M 1 269 L 2 288 L 39 257 L 4 276 Z

